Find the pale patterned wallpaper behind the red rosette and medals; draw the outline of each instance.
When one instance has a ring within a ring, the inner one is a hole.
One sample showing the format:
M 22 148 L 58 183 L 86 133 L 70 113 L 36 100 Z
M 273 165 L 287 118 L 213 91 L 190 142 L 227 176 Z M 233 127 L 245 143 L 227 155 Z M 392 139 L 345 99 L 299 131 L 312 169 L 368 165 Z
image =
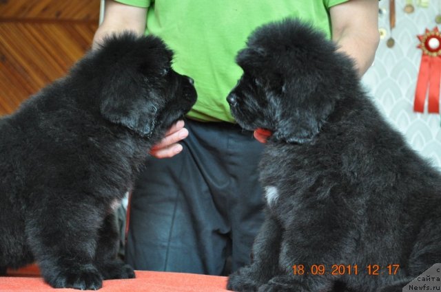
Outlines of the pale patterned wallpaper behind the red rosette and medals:
M 425 2 L 424 8 L 418 3 Z M 413 3 L 411 14 L 404 5 Z M 440 115 L 413 112 L 413 98 L 420 68 L 422 50 L 417 35 L 437 25 L 435 16 L 441 14 L 441 0 L 396 0 L 396 27 L 392 31 L 395 45 L 387 47 L 389 32 L 389 1 L 380 1 L 379 26 L 387 31 L 381 39 L 373 66 L 362 81 L 378 108 L 409 144 L 441 170 Z M 441 29 L 441 25 L 438 25 Z

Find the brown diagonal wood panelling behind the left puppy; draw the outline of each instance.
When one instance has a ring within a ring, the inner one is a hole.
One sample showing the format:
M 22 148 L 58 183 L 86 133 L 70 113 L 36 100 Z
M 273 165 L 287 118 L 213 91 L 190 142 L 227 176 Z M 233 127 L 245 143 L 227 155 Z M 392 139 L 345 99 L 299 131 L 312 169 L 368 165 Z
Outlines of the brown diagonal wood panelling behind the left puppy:
M 99 0 L 0 0 L 0 115 L 63 76 L 90 48 Z

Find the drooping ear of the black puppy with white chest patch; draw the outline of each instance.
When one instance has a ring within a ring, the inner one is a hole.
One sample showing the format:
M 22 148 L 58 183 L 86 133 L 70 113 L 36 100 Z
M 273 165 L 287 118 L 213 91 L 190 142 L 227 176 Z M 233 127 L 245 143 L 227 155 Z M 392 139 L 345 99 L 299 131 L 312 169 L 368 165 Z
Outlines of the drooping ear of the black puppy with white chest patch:
M 334 104 L 334 100 L 310 96 L 296 106 L 284 107 L 274 137 L 290 143 L 311 142 L 334 111 Z

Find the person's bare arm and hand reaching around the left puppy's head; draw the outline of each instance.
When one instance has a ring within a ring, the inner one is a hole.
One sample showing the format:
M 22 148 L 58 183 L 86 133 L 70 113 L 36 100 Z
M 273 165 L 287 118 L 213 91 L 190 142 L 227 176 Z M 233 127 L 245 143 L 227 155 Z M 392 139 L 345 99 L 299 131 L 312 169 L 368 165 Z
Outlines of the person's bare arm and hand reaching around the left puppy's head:
M 124 30 L 131 30 L 140 36 L 145 32 L 147 8 L 125 5 L 112 0 L 106 0 L 104 6 L 104 20 L 94 35 L 92 49 L 96 49 L 109 34 L 119 34 Z M 165 137 L 154 146 L 150 154 L 156 158 L 172 157 L 183 149 L 177 142 L 187 137 L 188 131 L 184 122 L 178 121 L 165 134 Z

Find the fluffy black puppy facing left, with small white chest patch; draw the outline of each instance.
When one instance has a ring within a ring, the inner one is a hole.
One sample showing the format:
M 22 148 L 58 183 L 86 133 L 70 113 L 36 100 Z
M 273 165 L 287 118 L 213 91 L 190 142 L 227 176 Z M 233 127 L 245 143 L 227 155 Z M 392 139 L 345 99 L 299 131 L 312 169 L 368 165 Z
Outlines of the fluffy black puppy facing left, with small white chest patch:
M 285 20 L 256 30 L 236 60 L 232 114 L 272 135 L 260 162 L 266 220 L 229 289 L 398 292 L 441 262 L 441 176 L 334 43 Z

